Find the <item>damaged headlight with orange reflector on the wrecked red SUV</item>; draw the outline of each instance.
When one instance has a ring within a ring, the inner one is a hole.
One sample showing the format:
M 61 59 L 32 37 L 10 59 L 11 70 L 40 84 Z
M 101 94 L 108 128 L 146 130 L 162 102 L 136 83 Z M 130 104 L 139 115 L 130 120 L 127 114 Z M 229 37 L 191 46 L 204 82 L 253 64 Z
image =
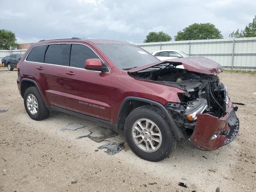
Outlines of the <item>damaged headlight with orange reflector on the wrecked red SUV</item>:
M 207 100 L 204 98 L 197 99 L 195 101 L 188 102 L 185 115 L 188 120 L 196 120 L 196 114 L 202 114 L 207 108 Z

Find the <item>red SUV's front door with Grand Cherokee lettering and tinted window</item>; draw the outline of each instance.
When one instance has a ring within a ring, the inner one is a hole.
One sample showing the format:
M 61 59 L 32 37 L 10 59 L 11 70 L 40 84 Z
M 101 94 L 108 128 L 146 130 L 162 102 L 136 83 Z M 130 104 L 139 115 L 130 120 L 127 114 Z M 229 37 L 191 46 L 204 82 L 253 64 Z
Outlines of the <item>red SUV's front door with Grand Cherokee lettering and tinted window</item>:
M 64 71 L 66 108 L 109 121 L 110 71 L 101 73 L 84 69 L 85 60 L 91 58 L 100 57 L 87 45 L 72 44 L 70 66 Z M 102 64 L 106 65 L 103 61 Z

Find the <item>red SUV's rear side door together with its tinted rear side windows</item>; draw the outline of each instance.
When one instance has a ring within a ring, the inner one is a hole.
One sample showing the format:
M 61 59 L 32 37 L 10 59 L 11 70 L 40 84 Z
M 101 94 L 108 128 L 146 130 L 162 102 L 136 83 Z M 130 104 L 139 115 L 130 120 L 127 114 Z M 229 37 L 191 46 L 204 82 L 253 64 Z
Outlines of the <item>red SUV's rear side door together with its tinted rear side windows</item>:
M 63 72 L 69 66 L 71 44 L 49 44 L 36 46 L 26 61 L 29 74 L 34 74 L 36 82 L 46 100 L 46 104 L 60 108 L 65 107 Z

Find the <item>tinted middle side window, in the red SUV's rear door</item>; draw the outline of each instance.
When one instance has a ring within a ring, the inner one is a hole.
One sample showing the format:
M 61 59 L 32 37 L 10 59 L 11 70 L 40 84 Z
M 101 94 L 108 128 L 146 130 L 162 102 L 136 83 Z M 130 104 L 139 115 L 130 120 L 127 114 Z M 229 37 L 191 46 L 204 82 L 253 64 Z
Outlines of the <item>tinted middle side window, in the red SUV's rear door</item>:
M 68 66 L 70 46 L 70 44 L 49 45 L 46 50 L 44 63 Z

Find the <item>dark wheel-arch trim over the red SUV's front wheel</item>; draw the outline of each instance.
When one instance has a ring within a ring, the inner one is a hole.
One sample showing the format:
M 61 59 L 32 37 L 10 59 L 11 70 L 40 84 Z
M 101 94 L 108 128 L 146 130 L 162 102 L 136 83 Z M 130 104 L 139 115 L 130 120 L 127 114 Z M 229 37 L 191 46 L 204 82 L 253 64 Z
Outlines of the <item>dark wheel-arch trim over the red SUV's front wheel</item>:
M 158 108 L 160 108 L 162 110 L 162 112 L 164 112 L 164 115 L 166 116 L 170 126 L 172 127 L 172 131 L 174 132 L 176 140 L 180 141 L 181 138 L 184 139 L 184 141 L 188 140 L 188 136 L 186 136 L 186 133 L 184 132 L 184 130 L 181 130 L 180 128 L 178 128 L 178 126 L 174 122 L 173 117 L 168 113 L 168 110 L 166 108 L 164 108 L 164 106 L 162 104 L 160 104 L 158 102 L 155 102 L 155 101 L 152 101 L 152 100 L 148 100 L 148 99 L 139 98 L 139 97 L 132 97 L 132 96 L 124 98 L 124 100 L 122 101 L 122 104 L 121 104 L 121 106 L 118 110 L 118 115 L 117 115 L 117 121 L 116 122 L 118 122 L 118 120 L 119 120 L 120 113 L 122 111 L 122 108 L 123 108 L 124 104 L 126 104 L 126 102 L 128 102 L 130 100 L 146 102 L 146 103 L 149 103 L 150 105 L 154 105 L 154 106 L 157 106 Z

